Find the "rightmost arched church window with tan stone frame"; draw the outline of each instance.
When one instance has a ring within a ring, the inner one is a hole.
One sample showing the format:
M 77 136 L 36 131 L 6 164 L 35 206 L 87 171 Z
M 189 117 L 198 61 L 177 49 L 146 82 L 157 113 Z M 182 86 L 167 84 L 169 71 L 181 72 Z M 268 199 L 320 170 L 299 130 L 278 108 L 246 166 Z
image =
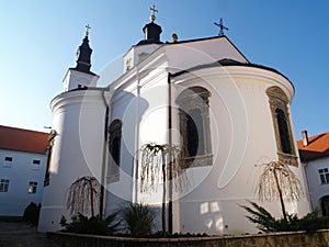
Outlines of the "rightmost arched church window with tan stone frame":
M 266 93 L 270 100 L 279 160 L 297 166 L 298 161 L 287 106 L 290 101 L 279 87 L 269 88 Z

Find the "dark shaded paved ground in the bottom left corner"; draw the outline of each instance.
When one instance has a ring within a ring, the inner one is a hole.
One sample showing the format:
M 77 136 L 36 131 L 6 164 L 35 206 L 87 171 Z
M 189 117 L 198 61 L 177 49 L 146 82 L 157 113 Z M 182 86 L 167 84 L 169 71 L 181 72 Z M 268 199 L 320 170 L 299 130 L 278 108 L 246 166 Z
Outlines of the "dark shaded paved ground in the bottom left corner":
M 60 247 L 24 222 L 0 222 L 0 247 Z

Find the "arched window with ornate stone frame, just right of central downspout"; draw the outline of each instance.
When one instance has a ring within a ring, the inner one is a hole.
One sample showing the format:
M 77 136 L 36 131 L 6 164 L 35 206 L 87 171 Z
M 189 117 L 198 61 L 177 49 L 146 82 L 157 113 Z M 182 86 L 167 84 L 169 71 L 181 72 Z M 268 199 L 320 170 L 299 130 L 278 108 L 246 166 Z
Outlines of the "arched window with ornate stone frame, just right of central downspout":
M 185 89 L 177 99 L 179 105 L 182 151 L 186 167 L 213 164 L 209 96 L 202 87 Z

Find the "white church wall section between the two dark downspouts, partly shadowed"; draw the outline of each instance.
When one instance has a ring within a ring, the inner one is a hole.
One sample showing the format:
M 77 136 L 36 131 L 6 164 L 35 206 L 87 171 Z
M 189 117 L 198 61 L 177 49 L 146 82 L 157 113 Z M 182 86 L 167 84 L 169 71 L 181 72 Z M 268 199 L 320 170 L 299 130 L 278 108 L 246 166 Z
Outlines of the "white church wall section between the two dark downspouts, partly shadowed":
M 123 130 L 120 181 L 107 184 L 106 214 L 125 201 L 159 203 L 157 193 L 140 194 L 139 186 L 136 187 L 135 172 L 138 170 L 133 168 L 133 162 L 136 150 L 144 144 L 168 143 L 168 72 L 150 69 L 143 75 L 136 71 L 131 78 L 111 101 L 110 123 L 121 120 Z

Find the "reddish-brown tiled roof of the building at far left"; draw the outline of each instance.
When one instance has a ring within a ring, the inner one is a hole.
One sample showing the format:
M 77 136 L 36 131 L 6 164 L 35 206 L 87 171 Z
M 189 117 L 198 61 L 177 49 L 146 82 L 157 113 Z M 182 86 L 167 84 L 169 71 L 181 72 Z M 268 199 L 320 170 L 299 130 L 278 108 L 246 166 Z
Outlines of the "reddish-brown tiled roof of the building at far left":
M 48 134 L 0 125 L 0 149 L 45 154 Z

